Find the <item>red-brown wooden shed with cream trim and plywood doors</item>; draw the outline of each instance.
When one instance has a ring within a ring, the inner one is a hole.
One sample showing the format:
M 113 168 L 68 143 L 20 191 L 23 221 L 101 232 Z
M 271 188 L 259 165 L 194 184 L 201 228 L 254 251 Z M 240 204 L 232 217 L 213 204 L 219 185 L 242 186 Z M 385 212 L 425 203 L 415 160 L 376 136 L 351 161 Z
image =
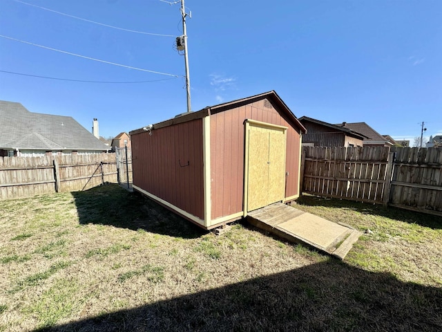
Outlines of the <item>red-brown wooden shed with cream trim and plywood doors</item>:
M 131 131 L 133 189 L 204 229 L 300 193 L 305 127 L 275 91 Z

